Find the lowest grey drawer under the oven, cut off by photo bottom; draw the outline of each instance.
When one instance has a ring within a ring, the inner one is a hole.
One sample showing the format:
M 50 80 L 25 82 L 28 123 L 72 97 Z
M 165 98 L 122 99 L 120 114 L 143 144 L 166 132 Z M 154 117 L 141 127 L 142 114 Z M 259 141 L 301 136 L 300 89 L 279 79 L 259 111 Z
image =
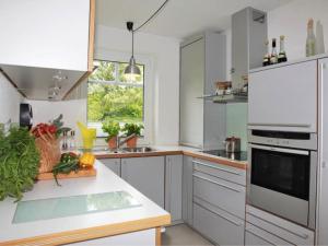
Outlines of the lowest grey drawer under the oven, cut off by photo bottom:
M 292 245 L 291 243 L 279 238 L 259 227 L 246 223 L 245 246 L 258 245 Z

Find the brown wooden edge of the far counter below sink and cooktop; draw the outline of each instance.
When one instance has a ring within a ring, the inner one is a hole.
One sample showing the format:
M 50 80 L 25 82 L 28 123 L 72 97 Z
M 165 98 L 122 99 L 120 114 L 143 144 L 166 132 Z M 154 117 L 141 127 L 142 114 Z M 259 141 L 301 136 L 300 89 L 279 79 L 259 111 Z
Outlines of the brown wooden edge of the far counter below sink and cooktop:
M 247 163 L 242 163 L 238 161 L 230 161 L 227 159 L 221 159 L 215 156 L 209 156 L 202 153 L 197 153 L 192 151 L 154 151 L 154 152 L 147 152 L 147 153 L 113 153 L 113 154 L 96 154 L 96 159 L 129 159 L 129 157 L 150 157 L 150 156 L 163 156 L 163 155 L 178 155 L 184 154 L 191 157 L 197 157 L 206 161 L 210 161 L 213 163 L 218 163 L 221 165 L 232 166 L 239 169 L 246 169 Z

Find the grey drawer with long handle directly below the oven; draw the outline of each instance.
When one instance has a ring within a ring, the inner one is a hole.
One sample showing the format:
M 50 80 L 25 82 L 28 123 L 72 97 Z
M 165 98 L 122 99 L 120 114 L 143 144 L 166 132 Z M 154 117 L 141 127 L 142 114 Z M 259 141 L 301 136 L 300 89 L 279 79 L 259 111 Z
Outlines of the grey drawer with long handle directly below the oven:
M 247 206 L 246 222 L 293 245 L 314 245 L 314 232 L 271 213 Z

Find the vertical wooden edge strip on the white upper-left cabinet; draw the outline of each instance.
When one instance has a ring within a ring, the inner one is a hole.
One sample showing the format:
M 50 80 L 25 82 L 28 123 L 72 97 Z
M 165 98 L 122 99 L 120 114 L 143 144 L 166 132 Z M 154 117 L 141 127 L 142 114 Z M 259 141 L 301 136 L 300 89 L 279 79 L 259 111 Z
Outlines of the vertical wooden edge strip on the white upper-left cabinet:
M 95 0 L 90 0 L 89 52 L 87 52 L 87 71 L 89 72 L 93 71 L 94 34 L 95 34 Z

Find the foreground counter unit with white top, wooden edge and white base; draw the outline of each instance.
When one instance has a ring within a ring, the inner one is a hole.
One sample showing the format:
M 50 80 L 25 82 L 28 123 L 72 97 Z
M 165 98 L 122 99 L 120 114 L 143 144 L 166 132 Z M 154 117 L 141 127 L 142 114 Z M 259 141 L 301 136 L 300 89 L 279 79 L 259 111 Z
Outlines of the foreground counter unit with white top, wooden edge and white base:
M 22 202 L 118 191 L 129 195 L 134 206 L 98 212 L 91 209 L 84 214 L 77 212 L 65 216 L 57 211 L 57 215 L 50 214 L 50 219 L 47 215 L 43 219 L 37 213 L 34 221 L 31 218 L 26 220 L 26 216 L 25 221 L 24 216 L 20 221 L 15 220 L 19 203 L 14 203 L 14 199 L 5 199 L 0 202 L 0 245 L 160 245 L 161 226 L 171 223 L 169 213 L 99 161 L 96 161 L 95 167 L 96 177 L 61 179 L 61 186 L 57 186 L 55 180 L 38 181 L 32 191 L 24 194 Z

